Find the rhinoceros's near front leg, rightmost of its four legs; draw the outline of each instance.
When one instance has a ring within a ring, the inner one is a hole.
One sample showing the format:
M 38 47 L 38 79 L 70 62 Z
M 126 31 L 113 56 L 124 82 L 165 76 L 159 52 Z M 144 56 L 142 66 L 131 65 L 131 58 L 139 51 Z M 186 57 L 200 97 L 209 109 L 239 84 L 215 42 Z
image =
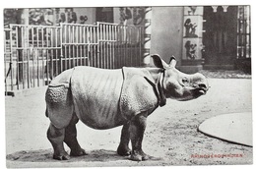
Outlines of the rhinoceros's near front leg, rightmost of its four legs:
M 143 114 L 135 116 L 130 122 L 129 132 L 132 141 L 131 160 L 142 161 L 149 159 L 149 155 L 142 150 L 142 141 L 146 123 L 147 116 Z

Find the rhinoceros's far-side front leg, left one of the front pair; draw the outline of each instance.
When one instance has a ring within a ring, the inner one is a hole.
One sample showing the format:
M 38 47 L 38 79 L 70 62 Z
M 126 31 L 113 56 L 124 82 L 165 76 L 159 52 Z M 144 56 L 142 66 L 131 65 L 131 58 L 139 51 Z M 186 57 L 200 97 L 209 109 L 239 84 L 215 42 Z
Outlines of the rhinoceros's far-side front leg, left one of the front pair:
M 129 141 L 130 141 L 129 126 L 130 126 L 129 123 L 123 125 L 123 129 L 121 133 L 121 141 L 117 148 L 117 153 L 122 156 L 127 156 L 131 154 L 131 149 L 129 148 Z

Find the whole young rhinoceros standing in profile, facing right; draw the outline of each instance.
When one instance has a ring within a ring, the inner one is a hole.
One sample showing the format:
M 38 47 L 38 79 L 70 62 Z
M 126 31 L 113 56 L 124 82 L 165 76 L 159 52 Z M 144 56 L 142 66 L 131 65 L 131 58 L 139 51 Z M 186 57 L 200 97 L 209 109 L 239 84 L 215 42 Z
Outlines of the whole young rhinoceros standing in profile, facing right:
M 45 113 L 50 120 L 47 138 L 54 159 L 87 154 L 77 141 L 79 120 L 97 130 L 123 126 L 117 153 L 136 161 L 152 157 L 142 149 L 147 117 L 165 105 L 166 98 L 190 100 L 209 89 L 202 74 L 186 75 L 175 69 L 174 57 L 169 64 L 159 55 L 152 58 L 154 68 L 104 70 L 79 66 L 52 80 L 45 93 Z M 64 142 L 71 149 L 70 155 Z

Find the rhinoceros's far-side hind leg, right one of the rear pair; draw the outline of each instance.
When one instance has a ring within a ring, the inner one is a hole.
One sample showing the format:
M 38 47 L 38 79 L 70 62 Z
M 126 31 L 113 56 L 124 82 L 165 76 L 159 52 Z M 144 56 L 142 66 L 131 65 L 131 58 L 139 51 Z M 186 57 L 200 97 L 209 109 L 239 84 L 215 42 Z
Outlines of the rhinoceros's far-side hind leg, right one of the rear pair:
M 67 143 L 67 145 L 70 147 L 71 156 L 87 155 L 85 149 L 81 148 L 77 140 L 76 124 L 78 123 L 78 121 L 79 119 L 74 113 L 72 120 L 70 121 L 69 125 L 65 128 L 64 142 Z

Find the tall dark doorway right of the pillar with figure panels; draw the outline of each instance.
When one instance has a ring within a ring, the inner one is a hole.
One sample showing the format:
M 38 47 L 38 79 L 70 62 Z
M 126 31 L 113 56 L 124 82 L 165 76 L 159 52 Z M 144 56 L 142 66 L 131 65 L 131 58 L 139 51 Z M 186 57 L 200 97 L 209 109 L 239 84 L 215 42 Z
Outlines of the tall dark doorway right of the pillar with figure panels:
M 237 49 L 237 6 L 204 7 L 205 65 L 232 69 Z

